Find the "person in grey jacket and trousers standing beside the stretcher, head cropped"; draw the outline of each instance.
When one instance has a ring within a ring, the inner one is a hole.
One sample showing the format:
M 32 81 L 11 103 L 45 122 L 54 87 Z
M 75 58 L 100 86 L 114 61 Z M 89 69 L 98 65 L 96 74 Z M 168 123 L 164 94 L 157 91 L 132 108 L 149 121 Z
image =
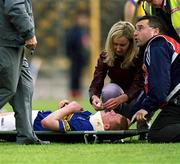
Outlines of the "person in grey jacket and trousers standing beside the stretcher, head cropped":
M 31 0 L 0 1 L 0 108 L 10 103 L 16 118 L 17 144 L 48 144 L 32 128 L 33 81 L 24 46 L 34 50 Z

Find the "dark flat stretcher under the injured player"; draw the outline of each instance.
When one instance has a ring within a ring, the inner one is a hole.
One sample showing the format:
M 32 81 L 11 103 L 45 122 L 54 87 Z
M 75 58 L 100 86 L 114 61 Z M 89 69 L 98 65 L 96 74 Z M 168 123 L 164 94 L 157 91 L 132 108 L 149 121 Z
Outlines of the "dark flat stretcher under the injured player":
M 146 134 L 148 130 L 119 130 L 119 131 L 36 131 L 36 135 L 41 140 L 64 143 L 102 143 L 122 141 L 124 138 Z M 15 141 L 16 131 L 0 131 L 0 140 Z

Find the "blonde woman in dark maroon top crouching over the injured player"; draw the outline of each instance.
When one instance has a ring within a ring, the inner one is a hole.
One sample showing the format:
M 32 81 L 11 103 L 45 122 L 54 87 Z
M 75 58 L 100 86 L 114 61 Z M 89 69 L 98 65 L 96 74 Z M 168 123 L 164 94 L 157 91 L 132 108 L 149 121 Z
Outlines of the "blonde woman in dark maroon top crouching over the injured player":
M 143 89 L 143 59 L 138 56 L 138 48 L 133 39 L 134 30 L 131 23 L 119 21 L 109 31 L 105 50 L 99 56 L 89 87 L 90 102 L 97 111 L 113 108 L 128 117 L 130 108 Z M 106 76 L 111 83 L 104 86 Z M 124 94 L 117 93 L 121 92 L 119 87 Z M 103 97 L 111 94 L 116 96 L 104 100 Z

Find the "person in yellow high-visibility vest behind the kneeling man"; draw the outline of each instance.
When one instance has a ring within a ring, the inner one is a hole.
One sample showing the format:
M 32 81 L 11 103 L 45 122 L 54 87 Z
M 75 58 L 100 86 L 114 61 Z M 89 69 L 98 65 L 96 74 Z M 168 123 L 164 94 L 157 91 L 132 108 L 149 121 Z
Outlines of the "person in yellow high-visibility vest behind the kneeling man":
M 144 0 L 143 3 L 146 14 L 158 16 L 166 26 L 167 35 L 180 43 L 180 1 Z

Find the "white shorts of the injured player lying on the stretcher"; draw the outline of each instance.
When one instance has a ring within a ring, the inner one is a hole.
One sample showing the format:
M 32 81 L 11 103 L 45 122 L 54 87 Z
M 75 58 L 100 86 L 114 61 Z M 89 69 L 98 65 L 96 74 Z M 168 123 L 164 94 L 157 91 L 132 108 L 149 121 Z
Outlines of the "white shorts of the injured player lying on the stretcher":
M 39 110 L 32 110 L 32 123 L 37 116 Z M 0 113 L 0 131 L 16 130 L 14 112 Z

